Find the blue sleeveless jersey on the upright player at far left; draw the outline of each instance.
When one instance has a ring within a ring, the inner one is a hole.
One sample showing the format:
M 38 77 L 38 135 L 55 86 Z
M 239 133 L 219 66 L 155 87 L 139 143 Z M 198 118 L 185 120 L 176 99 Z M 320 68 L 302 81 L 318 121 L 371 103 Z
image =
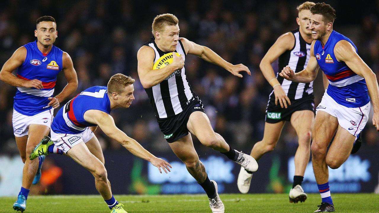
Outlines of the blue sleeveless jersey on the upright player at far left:
M 37 41 L 25 44 L 25 61 L 17 69 L 17 77 L 24 80 L 38 79 L 43 89 L 17 87 L 13 108 L 27 116 L 33 116 L 52 107 L 47 98 L 52 97 L 56 76 L 62 70 L 63 51 L 53 45 L 49 54 L 44 56 L 37 48 Z

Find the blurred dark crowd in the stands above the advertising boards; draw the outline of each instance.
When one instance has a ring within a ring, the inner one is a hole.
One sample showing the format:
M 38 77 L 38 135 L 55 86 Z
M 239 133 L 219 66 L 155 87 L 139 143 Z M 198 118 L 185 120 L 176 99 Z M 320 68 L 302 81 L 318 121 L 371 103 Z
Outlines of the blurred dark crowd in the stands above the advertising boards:
M 130 108 L 113 110 L 111 114 L 117 127 L 145 148 L 165 152 L 169 150 L 168 145 L 139 83 L 136 53 L 152 37 L 153 18 L 162 13 L 175 14 L 179 18 L 181 37 L 205 45 L 230 63 L 243 63 L 251 70 L 251 76 L 244 74 L 238 78 L 196 56 L 188 55 L 185 61 L 189 83 L 204 103 L 215 131 L 236 149 L 250 151 L 263 137 L 265 109 L 272 91 L 259 63 L 281 34 L 297 28 L 296 6 L 302 2 L 12 0 L 3 2 L 0 8 L 0 64 L 18 47 L 35 40 L 38 17 L 53 16 L 58 30 L 54 45 L 69 53 L 78 75 L 79 86 L 73 96 L 88 87 L 106 85 L 113 74 L 132 76 L 136 80 L 136 99 Z M 379 76 L 379 1 L 362 1 L 355 5 L 341 4 L 337 0 L 327 3 L 337 10 L 334 30 L 356 44 L 359 55 Z M 277 63 L 273 67 L 278 70 Z M 61 73 L 55 92 L 65 85 Z M 314 87 L 317 105 L 323 94 L 322 82 L 316 82 Z M 17 154 L 12 128 L 16 88 L 0 82 L 0 91 L 0 153 Z M 103 149 L 124 149 L 100 129 L 95 133 Z M 293 128 L 286 125 L 283 133 L 278 150 L 296 149 Z M 370 117 L 363 131 L 363 146 L 379 147 L 377 138 Z M 194 145 L 197 149 L 206 149 L 196 139 Z

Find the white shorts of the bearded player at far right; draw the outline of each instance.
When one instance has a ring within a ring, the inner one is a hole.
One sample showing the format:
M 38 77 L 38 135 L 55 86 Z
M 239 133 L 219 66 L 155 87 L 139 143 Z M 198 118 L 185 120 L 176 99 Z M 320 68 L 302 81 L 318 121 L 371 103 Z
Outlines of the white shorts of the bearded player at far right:
M 325 90 L 323 99 L 316 108 L 316 114 L 317 111 L 324 111 L 333 117 L 337 117 L 338 124 L 340 124 L 342 128 L 348 130 L 351 135 L 357 137 L 368 121 L 370 107 L 370 102 L 363 107 L 345 107 L 335 102 Z

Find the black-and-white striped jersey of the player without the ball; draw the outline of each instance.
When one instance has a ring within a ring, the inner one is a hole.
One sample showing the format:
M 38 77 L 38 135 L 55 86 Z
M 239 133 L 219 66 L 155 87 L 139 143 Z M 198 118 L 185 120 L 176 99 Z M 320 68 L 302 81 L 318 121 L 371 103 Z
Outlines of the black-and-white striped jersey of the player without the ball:
M 310 83 L 298 83 L 294 81 L 288 81 L 281 77 L 279 73 L 282 71 L 283 67 L 289 65 L 294 72 L 300 72 L 307 67 L 310 58 L 310 45 L 305 42 L 301 37 L 299 28 L 292 30 L 295 37 L 295 44 L 292 50 L 287 50 L 282 55 L 279 56 L 279 70 L 276 75 L 280 85 L 287 97 L 290 100 L 297 100 L 307 96 L 313 96 L 313 81 Z M 270 94 L 270 99 L 275 99 L 274 90 Z

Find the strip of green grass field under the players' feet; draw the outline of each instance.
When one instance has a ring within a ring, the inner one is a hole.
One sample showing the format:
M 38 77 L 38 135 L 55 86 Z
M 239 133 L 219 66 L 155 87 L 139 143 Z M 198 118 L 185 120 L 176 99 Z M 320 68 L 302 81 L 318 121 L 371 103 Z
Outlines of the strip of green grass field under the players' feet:
M 128 213 L 211 212 L 205 195 L 115 195 Z M 379 194 L 332 194 L 338 213 L 378 213 Z M 12 212 L 16 197 L 0 197 L 0 212 Z M 304 203 L 291 204 L 287 194 L 222 194 L 226 213 L 313 212 L 319 194 L 309 194 Z M 29 196 L 24 213 L 109 213 L 100 196 Z

